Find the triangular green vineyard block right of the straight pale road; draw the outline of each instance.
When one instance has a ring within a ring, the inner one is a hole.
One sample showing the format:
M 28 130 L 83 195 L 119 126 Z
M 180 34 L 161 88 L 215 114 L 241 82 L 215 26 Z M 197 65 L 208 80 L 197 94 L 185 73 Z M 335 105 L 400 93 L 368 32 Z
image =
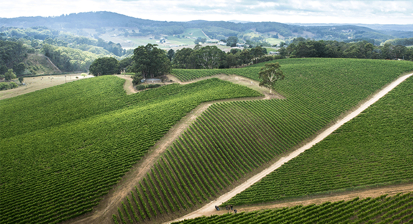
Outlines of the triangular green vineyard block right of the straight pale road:
M 228 204 L 413 182 L 413 78 Z

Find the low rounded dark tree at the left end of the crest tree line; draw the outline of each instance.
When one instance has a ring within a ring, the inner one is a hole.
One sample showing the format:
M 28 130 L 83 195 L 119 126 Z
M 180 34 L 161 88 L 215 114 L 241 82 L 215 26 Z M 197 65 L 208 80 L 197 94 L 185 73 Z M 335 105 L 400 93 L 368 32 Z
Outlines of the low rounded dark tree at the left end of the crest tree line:
M 120 74 L 119 62 L 114 57 L 97 58 L 90 65 L 89 74 L 93 74 L 93 76 Z

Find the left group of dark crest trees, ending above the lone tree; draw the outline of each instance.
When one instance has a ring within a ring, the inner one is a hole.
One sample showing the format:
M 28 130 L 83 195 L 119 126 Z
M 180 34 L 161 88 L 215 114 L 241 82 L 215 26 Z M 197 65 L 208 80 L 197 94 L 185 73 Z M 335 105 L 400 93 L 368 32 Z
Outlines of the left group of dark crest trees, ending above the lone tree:
M 172 67 L 175 68 L 229 68 L 244 64 L 259 63 L 277 59 L 276 56 L 265 56 L 266 48 L 257 46 L 255 48 L 231 49 L 225 53 L 217 46 L 196 45 L 192 48 L 182 48 L 181 50 L 165 50 L 156 47 L 156 44 L 139 46 L 133 50 L 133 56 L 124 58 L 120 61 L 114 57 L 97 58 L 89 67 L 90 74 L 102 76 L 106 74 L 119 74 L 134 72 L 133 84 L 137 85 L 142 79 L 155 78 L 170 73 Z M 277 70 L 267 68 L 267 71 Z M 278 72 L 279 70 L 277 70 Z M 282 74 L 277 73 L 277 76 Z M 270 77 L 269 82 L 277 81 Z M 272 85 L 272 84 L 271 84 Z

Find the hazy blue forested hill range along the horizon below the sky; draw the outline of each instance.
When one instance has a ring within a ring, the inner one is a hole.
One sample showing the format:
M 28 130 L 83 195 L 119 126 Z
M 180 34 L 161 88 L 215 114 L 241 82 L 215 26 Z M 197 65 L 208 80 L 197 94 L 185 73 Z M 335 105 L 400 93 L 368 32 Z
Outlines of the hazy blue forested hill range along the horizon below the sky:
M 79 32 L 79 29 L 95 29 L 102 33 L 102 29 L 123 29 L 126 35 L 179 35 L 186 29 L 205 29 L 211 39 L 238 35 L 243 37 L 247 33 L 257 33 L 263 38 L 291 39 L 295 37 L 312 38 L 315 40 L 360 40 L 374 39 L 384 42 L 394 38 L 413 37 L 413 28 L 408 25 L 342 25 L 342 24 L 283 24 L 277 22 L 225 22 L 195 20 L 188 22 L 166 22 L 144 20 L 111 12 L 88 12 L 61 15 L 58 17 L 18 17 L 0 18 L 0 26 L 29 28 L 46 26 L 60 31 Z M 133 32 L 130 32 L 133 30 Z M 225 31 L 225 32 L 223 32 Z M 85 31 L 86 32 L 86 31 Z M 86 36 L 93 35 L 86 33 Z

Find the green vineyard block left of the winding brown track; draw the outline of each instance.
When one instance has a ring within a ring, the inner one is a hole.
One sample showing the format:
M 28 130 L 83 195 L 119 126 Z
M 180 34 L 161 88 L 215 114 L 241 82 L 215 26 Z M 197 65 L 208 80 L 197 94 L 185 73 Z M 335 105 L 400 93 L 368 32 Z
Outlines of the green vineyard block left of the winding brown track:
M 0 101 L 0 223 L 56 223 L 99 203 L 199 103 L 259 96 L 218 79 L 126 95 L 103 76 Z

